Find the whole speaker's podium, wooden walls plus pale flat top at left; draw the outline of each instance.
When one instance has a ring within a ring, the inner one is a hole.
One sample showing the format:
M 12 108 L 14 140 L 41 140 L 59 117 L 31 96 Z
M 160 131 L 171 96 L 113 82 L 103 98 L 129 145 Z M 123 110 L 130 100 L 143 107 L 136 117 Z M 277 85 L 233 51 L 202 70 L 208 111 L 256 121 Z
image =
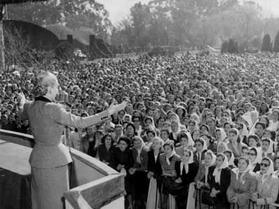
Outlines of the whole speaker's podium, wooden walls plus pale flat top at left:
M 0 208 L 31 209 L 29 155 L 33 136 L 0 130 Z M 124 176 L 79 150 L 70 149 L 66 209 L 124 208 Z

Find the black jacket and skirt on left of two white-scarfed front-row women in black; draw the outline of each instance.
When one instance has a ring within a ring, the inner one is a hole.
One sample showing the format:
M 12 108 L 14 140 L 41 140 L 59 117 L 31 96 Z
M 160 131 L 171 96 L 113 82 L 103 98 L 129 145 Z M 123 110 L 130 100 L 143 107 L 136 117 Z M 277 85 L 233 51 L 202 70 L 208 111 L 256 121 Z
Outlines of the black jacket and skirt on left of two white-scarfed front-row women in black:
M 178 209 L 185 209 L 187 206 L 187 199 L 188 199 L 188 189 L 190 183 L 195 181 L 195 176 L 197 176 L 197 171 L 199 166 L 197 164 L 190 163 L 188 164 L 189 170 L 186 173 L 185 168 L 183 166 L 182 174 L 181 174 L 181 162 L 175 162 L 175 170 L 177 173 L 177 178 L 181 178 L 183 189 L 179 192 L 179 195 L 176 196 L 176 206 Z

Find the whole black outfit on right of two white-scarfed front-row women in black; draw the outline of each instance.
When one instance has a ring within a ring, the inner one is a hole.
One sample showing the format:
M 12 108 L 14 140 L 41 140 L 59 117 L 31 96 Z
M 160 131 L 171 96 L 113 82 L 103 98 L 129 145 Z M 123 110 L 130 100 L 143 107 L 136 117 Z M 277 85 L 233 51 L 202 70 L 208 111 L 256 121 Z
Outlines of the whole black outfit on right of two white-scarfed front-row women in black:
M 227 188 L 229 187 L 229 183 L 231 180 L 231 169 L 225 168 L 222 169 L 220 174 L 220 184 L 216 183 L 215 176 L 213 176 L 214 169 L 216 167 L 209 167 L 209 175 L 208 175 L 208 183 L 210 189 L 216 189 L 220 192 L 216 195 L 216 209 L 220 208 L 229 208 L 229 202 L 227 201 Z

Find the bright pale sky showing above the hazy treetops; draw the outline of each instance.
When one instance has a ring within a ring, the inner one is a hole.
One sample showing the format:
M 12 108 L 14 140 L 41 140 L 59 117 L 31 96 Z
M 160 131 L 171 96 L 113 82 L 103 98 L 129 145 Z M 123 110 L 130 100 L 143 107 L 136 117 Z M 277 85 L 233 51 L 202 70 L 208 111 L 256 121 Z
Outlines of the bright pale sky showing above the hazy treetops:
M 137 2 L 148 3 L 150 0 L 96 0 L 103 3 L 110 13 L 112 24 L 116 25 L 129 14 L 130 8 Z M 279 0 L 255 0 L 262 6 L 264 16 L 279 17 Z

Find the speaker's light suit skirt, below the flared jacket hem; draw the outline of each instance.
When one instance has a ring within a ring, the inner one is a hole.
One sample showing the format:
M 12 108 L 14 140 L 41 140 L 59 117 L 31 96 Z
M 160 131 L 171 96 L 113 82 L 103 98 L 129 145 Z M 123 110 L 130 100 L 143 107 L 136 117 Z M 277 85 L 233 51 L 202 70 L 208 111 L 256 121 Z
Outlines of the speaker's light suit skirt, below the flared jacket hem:
M 31 167 L 32 209 L 64 209 L 63 193 L 68 189 L 68 164 L 50 169 Z

